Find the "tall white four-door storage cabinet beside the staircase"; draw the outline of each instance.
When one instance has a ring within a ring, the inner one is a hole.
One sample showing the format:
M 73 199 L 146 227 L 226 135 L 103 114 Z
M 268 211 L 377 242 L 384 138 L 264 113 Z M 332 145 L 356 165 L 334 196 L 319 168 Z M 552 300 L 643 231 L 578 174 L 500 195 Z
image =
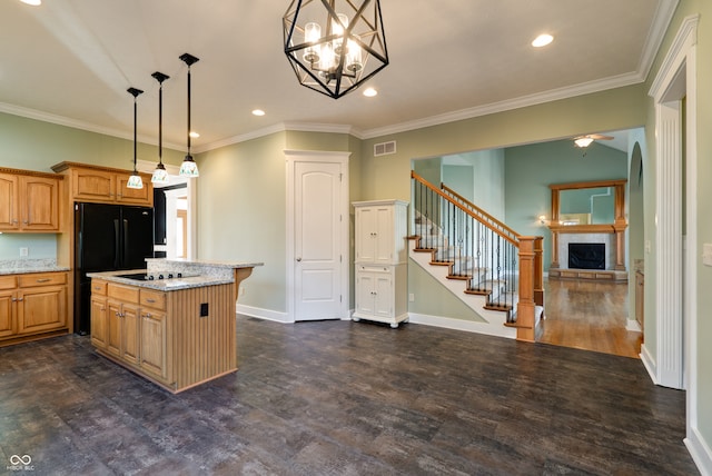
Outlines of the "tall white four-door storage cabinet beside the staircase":
M 354 202 L 356 216 L 356 309 L 367 319 L 396 328 L 408 318 L 408 204 L 402 200 Z

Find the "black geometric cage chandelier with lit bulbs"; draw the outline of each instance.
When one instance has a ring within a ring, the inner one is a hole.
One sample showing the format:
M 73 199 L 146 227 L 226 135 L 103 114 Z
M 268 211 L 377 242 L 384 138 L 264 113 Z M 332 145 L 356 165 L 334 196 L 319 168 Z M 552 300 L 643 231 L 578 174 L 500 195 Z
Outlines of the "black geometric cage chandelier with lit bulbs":
M 388 66 L 379 0 L 293 0 L 283 24 L 299 82 L 334 99 Z

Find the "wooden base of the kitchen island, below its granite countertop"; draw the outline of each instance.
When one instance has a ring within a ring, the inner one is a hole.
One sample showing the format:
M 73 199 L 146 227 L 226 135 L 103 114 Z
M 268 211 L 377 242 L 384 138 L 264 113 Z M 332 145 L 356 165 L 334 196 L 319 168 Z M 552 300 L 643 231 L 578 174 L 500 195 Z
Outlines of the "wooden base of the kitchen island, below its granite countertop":
M 103 281 L 95 284 L 101 288 Z M 96 326 L 108 334 L 92 335 L 97 353 L 169 391 L 179 393 L 237 370 L 233 284 L 161 292 L 108 282 L 107 295 L 95 297 L 93 317 L 115 323 Z M 102 308 L 109 313 L 99 314 Z M 136 325 L 122 317 L 129 313 L 121 309 L 129 308 L 137 309 Z M 111 346 L 111 341 L 118 344 Z

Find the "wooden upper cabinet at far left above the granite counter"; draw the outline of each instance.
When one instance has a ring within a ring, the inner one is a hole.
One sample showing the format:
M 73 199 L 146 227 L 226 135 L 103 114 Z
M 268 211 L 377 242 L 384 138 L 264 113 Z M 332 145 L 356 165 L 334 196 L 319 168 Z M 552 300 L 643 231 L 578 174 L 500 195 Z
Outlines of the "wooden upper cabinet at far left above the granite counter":
M 60 231 L 62 179 L 49 173 L 0 169 L 0 230 Z

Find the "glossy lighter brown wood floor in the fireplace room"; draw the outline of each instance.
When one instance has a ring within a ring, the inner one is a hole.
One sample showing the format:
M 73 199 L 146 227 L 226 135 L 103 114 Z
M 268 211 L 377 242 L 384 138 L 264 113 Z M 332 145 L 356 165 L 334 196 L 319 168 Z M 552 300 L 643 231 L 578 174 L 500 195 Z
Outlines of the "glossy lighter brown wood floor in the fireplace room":
M 541 343 L 640 358 L 642 333 L 626 329 L 627 285 L 544 281 Z

